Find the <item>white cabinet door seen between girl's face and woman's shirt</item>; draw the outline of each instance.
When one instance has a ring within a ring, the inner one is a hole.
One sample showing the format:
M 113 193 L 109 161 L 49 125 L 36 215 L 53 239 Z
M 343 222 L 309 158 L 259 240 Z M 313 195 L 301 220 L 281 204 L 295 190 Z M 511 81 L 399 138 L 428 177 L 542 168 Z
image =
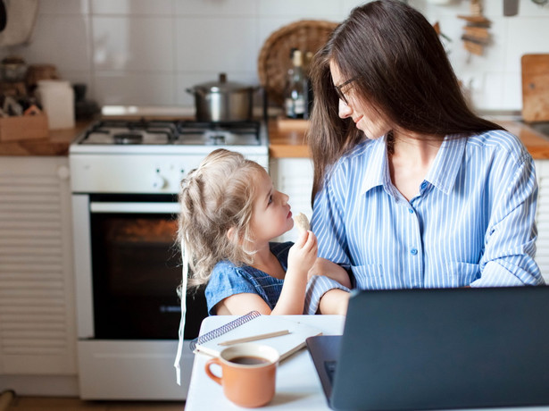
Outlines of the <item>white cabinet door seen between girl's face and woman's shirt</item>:
M 270 161 L 270 178 L 275 189 L 287 194 L 292 213 L 312 217 L 312 161 L 309 158 L 274 158 Z M 295 241 L 297 229 L 281 235 L 276 241 Z

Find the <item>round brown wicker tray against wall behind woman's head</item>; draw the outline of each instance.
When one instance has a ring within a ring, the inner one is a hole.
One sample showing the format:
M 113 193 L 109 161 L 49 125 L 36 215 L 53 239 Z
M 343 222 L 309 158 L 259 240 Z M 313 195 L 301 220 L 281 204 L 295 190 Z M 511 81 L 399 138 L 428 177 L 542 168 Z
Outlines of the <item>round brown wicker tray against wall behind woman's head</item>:
M 328 41 L 337 22 L 302 20 L 284 26 L 265 40 L 257 61 L 262 87 L 271 103 L 283 105 L 286 75 L 290 68 L 292 48 L 316 53 Z

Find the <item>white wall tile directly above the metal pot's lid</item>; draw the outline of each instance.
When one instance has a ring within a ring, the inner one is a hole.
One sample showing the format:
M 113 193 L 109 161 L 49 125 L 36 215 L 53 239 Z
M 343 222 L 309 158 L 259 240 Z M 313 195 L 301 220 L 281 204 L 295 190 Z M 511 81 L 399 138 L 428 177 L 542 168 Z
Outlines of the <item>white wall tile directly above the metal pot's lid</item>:
M 178 71 L 257 70 L 254 18 L 180 17 L 176 33 Z

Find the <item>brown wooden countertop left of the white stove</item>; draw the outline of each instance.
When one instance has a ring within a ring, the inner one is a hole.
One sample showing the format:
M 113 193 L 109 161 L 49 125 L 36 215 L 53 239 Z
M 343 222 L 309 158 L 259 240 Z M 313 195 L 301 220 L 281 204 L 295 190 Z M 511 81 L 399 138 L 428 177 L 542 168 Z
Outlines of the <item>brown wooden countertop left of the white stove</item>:
M 77 122 L 73 129 L 50 130 L 47 138 L 0 141 L 0 155 L 69 155 L 72 140 L 92 122 Z

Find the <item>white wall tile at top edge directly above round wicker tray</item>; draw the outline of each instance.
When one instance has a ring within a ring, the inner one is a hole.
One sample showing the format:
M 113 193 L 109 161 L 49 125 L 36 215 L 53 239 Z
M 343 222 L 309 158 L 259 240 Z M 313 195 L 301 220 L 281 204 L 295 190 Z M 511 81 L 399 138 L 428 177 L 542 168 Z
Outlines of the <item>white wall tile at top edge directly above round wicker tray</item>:
M 268 16 L 294 16 L 296 19 L 326 18 L 339 15 L 341 5 L 334 0 L 257 0 L 258 13 Z

